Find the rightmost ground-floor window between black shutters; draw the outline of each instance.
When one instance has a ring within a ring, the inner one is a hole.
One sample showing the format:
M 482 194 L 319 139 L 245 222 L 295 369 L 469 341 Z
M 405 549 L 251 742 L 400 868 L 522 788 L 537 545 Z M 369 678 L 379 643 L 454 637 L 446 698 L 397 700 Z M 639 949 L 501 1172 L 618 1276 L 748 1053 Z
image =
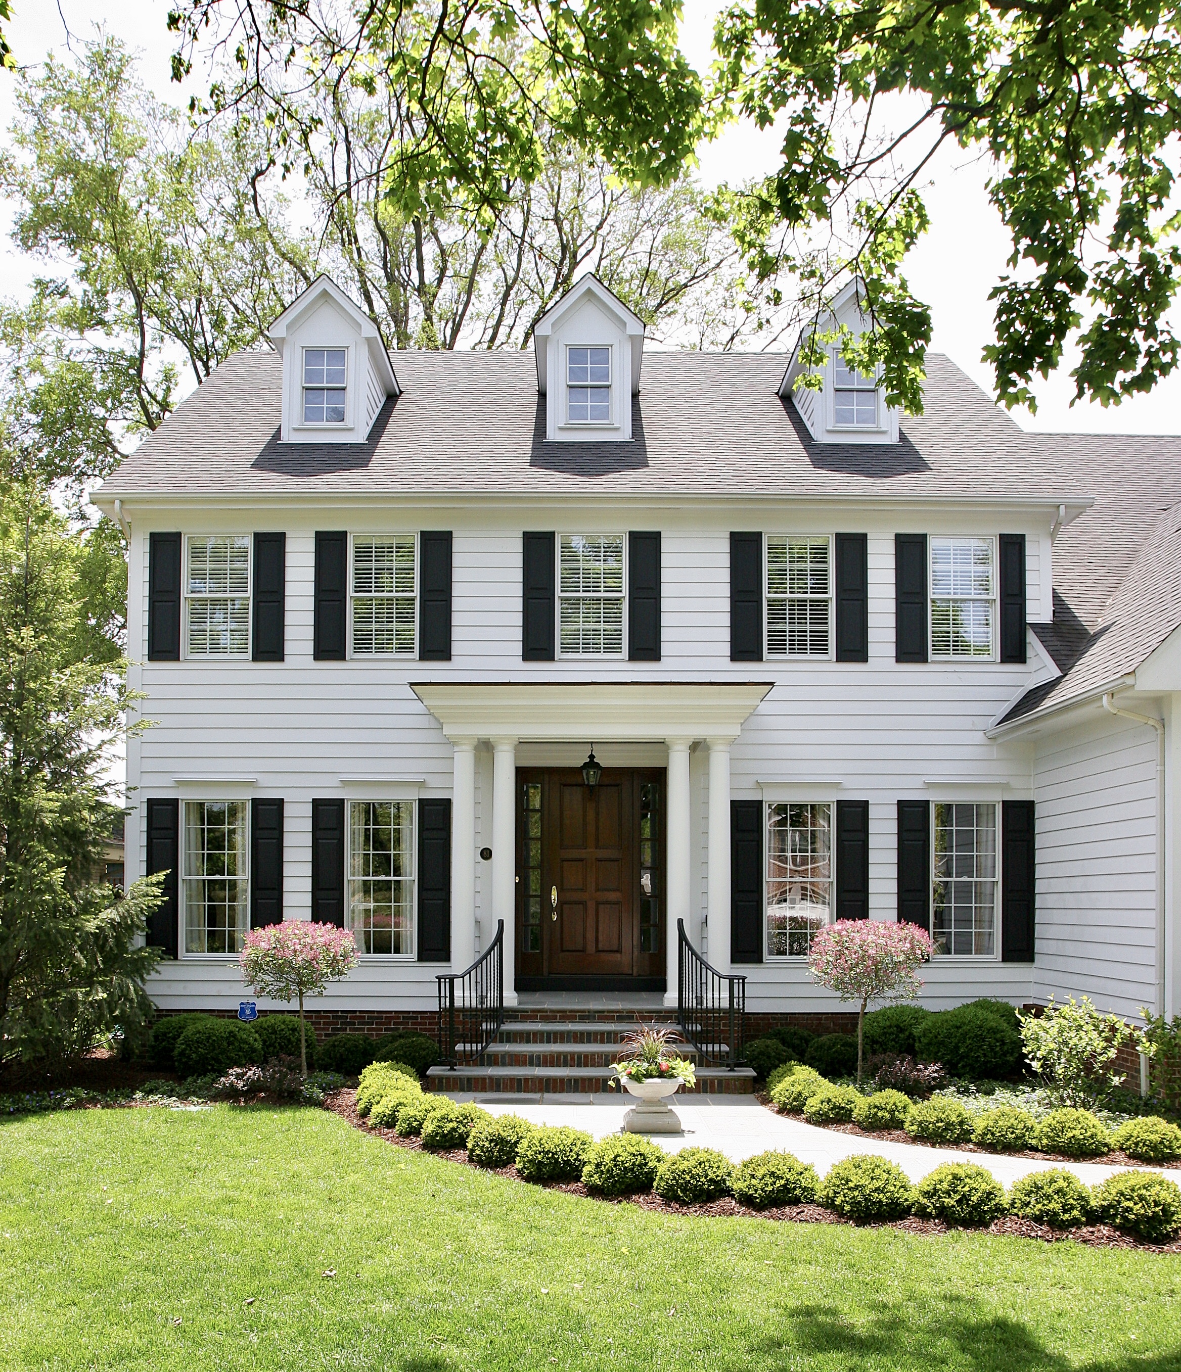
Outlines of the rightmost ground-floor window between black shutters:
M 935 951 L 993 958 L 997 948 L 997 807 L 932 805 Z

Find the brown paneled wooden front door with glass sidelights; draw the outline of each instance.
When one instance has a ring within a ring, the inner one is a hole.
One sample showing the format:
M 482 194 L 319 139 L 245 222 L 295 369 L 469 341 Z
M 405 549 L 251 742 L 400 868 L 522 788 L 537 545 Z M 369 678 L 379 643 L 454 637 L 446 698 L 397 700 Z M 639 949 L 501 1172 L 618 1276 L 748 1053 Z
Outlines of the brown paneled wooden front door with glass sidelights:
M 662 772 L 518 772 L 518 989 L 663 986 L 662 796 Z

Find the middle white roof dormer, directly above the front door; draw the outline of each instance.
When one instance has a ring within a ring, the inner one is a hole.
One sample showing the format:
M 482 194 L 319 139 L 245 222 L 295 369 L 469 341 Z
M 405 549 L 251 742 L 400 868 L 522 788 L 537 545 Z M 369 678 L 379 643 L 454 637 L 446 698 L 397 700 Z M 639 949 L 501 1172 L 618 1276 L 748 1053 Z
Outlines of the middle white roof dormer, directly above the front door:
M 595 276 L 584 276 L 533 331 L 545 436 L 601 443 L 632 436 L 644 324 Z

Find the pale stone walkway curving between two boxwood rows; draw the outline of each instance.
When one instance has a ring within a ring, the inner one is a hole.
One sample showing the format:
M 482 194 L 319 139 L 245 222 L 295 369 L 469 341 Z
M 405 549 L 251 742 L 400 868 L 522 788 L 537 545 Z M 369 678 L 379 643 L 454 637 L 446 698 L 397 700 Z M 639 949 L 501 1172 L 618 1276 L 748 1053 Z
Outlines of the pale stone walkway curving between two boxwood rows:
M 633 1103 L 630 1098 L 618 1095 L 549 1096 L 537 1100 L 523 1100 L 512 1096 L 498 1100 L 494 1096 L 472 1096 L 456 1093 L 455 1100 L 478 1100 L 492 1114 L 519 1114 L 534 1124 L 564 1124 L 601 1139 L 618 1133 L 623 1115 Z M 654 1136 L 652 1142 L 667 1152 L 678 1148 L 717 1148 L 733 1162 L 742 1162 L 757 1152 L 777 1148 L 794 1152 L 802 1162 L 810 1162 L 824 1176 L 834 1162 L 857 1152 L 875 1152 L 897 1162 L 912 1181 L 921 1180 L 941 1162 L 978 1162 L 987 1168 L 1005 1187 L 1030 1172 L 1044 1172 L 1048 1168 L 1068 1168 L 1088 1185 L 1096 1185 L 1114 1172 L 1114 1168 L 1099 1162 L 1046 1162 L 1041 1158 L 1011 1158 L 987 1152 L 960 1152 L 956 1148 L 927 1148 L 915 1143 L 890 1143 L 884 1139 L 862 1139 L 857 1135 L 836 1133 L 832 1129 L 817 1129 L 802 1120 L 788 1120 L 761 1106 L 753 1096 L 674 1096 L 673 1107 L 681 1118 L 684 1133 Z M 1176 1169 L 1155 1169 L 1181 1183 L 1181 1172 Z

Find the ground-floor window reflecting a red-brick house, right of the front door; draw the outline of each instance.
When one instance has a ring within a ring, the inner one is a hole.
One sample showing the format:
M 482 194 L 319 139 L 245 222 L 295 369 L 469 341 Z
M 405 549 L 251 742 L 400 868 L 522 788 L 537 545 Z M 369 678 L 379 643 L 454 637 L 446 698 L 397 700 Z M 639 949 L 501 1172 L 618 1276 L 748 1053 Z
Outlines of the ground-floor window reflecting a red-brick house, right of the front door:
M 831 916 L 832 805 L 768 805 L 768 958 L 806 958 Z

